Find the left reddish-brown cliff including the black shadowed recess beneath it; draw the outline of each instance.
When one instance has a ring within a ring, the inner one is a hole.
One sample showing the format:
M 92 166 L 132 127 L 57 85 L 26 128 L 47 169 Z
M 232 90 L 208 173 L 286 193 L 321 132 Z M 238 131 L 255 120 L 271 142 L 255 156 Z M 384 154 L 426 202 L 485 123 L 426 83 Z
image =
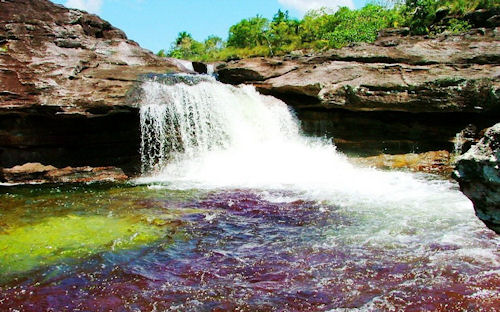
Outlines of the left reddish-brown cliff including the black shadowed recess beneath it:
M 96 15 L 0 1 L 0 167 L 137 169 L 138 110 L 127 94 L 141 74 L 171 71 L 176 63 Z

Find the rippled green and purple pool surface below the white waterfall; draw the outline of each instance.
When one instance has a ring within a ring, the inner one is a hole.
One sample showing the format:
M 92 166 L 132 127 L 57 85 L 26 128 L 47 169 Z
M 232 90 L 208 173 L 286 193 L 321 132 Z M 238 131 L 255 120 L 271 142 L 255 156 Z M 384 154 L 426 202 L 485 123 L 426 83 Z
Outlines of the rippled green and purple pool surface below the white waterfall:
M 244 188 L 9 188 L 0 195 L 0 310 L 500 306 L 500 241 L 468 204 L 350 205 Z

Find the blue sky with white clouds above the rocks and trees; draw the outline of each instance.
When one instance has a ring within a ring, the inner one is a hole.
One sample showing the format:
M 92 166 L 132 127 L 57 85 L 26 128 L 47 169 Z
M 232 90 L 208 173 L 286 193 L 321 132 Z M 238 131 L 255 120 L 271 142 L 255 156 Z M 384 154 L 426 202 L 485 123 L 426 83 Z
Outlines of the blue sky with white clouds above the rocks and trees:
M 257 14 L 267 18 L 278 9 L 302 17 L 310 8 L 347 5 L 362 7 L 368 0 L 53 0 L 96 13 L 142 47 L 153 52 L 170 47 L 181 31 L 197 40 L 209 35 L 227 38 L 229 27 Z

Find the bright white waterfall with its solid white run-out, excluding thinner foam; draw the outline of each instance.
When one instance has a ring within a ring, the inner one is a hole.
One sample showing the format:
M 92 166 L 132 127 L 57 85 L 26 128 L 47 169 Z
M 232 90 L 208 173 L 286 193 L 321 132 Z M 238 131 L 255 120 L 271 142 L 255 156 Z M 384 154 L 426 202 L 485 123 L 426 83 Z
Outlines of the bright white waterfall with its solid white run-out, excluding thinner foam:
M 183 77 L 142 86 L 138 183 L 286 190 L 343 207 L 395 209 L 400 217 L 419 209 L 443 213 L 443 202 L 452 211 L 471 209 L 447 180 L 354 166 L 326 139 L 302 135 L 285 103 L 251 86 Z

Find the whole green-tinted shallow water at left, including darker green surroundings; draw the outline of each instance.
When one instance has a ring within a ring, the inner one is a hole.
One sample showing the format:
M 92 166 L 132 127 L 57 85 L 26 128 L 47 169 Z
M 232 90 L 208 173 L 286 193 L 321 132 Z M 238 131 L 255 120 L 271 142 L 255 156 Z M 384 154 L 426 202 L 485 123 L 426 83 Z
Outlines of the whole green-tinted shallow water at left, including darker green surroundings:
M 0 188 L 0 283 L 103 252 L 187 239 L 180 203 L 196 192 L 147 187 Z

